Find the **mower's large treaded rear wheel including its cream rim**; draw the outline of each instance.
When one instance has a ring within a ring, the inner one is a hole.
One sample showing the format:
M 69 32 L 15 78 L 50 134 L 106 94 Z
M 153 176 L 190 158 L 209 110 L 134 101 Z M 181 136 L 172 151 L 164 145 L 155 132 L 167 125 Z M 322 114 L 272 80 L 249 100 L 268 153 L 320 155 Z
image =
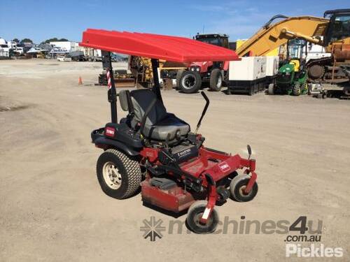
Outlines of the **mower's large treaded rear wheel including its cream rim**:
M 112 198 L 132 196 L 141 184 L 139 162 L 118 150 L 106 150 L 97 160 L 97 179 L 102 191 Z

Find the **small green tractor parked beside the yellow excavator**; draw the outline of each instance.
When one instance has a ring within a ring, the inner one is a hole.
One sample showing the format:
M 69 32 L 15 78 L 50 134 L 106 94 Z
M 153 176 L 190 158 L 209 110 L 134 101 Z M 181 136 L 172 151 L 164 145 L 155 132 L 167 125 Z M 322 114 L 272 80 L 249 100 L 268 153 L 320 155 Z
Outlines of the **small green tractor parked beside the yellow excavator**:
M 275 83 L 269 85 L 269 94 L 307 94 L 307 71 L 300 59 L 291 59 L 279 68 Z

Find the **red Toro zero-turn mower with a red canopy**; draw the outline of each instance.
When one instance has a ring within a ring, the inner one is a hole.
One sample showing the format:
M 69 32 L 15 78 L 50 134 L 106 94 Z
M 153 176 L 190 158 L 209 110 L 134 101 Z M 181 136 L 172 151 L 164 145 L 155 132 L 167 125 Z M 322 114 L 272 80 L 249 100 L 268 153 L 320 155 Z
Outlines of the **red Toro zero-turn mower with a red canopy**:
M 107 195 L 127 198 L 141 185 L 145 203 L 176 213 L 188 209 L 186 221 L 195 233 L 215 231 L 216 203 L 225 203 L 230 196 L 241 202 L 255 197 L 258 184 L 251 147 L 248 146 L 248 159 L 204 147 L 204 137 L 197 130 L 207 112 L 208 97 L 202 92 L 207 102 L 195 132 L 191 132 L 186 122 L 165 109 L 158 81 L 158 59 L 225 61 L 235 59 L 235 52 L 227 50 L 222 54 L 215 46 L 208 48 L 188 38 L 94 29 L 84 32 L 80 45 L 106 50 L 102 52 L 102 62 L 109 71 L 111 123 L 92 131 L 91 136 L 92 143 L 104 150 L 97 160 L 97 178 Z M 199 57 L 189 52 L 198 48 L 202 48 Z M 111 51 L 151 57 L 153 89 L 116 94 Z M 120 122 L 117 96 L 120 107 L 128 112 Z M 242 175 L 237 175 L 237 169 L 243 170 Z

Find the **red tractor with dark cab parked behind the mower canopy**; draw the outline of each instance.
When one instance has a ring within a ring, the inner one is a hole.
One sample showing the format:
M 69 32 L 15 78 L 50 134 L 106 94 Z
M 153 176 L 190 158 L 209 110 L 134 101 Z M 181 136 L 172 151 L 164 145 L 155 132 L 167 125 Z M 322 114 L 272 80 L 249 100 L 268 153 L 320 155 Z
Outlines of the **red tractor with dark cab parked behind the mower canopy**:
M 229 49 L 228 35 L 226 34 L 197 34 L 195 40 L 210 45 L 217 45 Z M 225 75 L 228 72 L 229 61 L 201 61 L 193 62 L 188 70 L 181 70 L 176 75 L 178 88 L 183 93 L 195 93 L 203 82 L 209 82 L 209 89 L 220 91 L 223 87 Z

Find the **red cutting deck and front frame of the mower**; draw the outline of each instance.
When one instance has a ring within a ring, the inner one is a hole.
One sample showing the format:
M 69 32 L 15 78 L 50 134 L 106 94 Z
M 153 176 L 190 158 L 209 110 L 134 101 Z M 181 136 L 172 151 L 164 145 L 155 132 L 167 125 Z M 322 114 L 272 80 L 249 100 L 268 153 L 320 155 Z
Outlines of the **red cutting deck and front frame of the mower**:
M 206 175 L 210 175 L 216 183 L 228 177 L 239 168 L 249 168 L 247 170 L 253 172 L 255 169 L 255 160 L 242 159 L 238 154 L 231 156 L 224 152 L 216 152 L 202 147 L 197 157 L 189 159 L 180 164 L 179 167 L 184 173 L 202 179 L 203 186 L 208 187 L 209 184 L 205 178 Z M 256 175 L 253 175 L 248 184 L 253 184 L 255 180 Z M 154 184 L 153 178 L 148 178 L 141 183 L 142 201 L 178 213 L 189 208 L 196 200 L 207 197 L 207 192 L 203 191 L 197 192 L 197 194 L 190 194 L 183 187 L 179 187 L 177 183 L 172 184 L 171 182 L 173 180 L 162 178 L 161 181 L 167 183 L 165 188 L 162 188 L 162 182 Z M 214 203 L 225 200 L 221 198 L 222 196 L 220 194 L 215 194 Z

